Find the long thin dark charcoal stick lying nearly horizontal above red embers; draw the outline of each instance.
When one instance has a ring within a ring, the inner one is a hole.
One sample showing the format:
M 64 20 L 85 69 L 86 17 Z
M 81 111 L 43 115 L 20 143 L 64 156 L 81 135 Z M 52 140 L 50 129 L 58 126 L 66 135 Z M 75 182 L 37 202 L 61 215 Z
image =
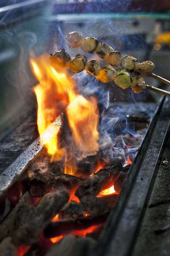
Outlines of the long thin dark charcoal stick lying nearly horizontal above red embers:
M 92 225 L 105 223 L 109 212 L 98 216 L 88 216 L 73 220 L 51 222 L 44 230 L 45 238 L 65 235 L 74 231 L 84 230 Z

